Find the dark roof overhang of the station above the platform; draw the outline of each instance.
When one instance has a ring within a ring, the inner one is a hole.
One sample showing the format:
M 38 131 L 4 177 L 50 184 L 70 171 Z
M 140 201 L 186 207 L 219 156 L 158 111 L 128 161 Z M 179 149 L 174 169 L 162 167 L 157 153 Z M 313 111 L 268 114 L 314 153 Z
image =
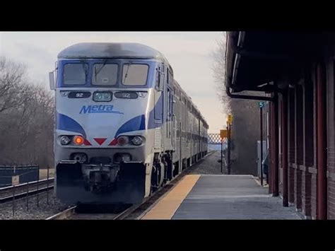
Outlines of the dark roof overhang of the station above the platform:
M 322 57 L 328 33 L 228 32 L 225 86 L 232 93 L 274 91 L 271 83 L 295 79 L 302 66 Z

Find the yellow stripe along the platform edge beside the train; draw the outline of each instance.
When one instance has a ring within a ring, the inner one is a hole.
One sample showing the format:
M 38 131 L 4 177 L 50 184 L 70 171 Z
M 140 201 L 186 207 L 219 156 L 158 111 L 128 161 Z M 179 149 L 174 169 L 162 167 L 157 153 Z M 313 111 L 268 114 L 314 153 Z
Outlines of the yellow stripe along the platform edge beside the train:
M 170 220 L 187 197 L 187 194 L 191 192 L 199 177 L 200 175 L 186 175 L 183 177 L 141 220 Z

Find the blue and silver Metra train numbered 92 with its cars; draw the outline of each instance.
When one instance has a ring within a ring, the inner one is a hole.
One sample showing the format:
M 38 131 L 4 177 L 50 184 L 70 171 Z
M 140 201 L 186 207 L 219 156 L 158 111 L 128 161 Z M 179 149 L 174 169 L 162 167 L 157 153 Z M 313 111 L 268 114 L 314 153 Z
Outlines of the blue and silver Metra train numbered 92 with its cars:
M 49 84 L 62 202 L 141 203 L 206 156 L 208 124 L 156 49 L 71 45 L 59 52 Z

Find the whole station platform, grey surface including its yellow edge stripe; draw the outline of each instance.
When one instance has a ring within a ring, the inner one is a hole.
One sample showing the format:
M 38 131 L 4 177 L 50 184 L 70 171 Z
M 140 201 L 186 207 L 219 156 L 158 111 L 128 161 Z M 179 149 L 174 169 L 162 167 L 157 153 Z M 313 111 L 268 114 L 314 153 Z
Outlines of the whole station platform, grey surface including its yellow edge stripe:
M 252 175 L 186 175 L 141 216 L 148 219 L 301 219 Z

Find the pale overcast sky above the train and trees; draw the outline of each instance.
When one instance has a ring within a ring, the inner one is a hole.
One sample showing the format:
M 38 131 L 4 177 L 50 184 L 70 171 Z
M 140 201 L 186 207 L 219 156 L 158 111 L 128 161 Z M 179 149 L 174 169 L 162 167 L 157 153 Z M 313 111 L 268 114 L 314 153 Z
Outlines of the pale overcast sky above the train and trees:
M 223 33 L 0 33 L 0 55 L 28 66 L 30 78 L 48 86 L 48 72 L 57 54 L 78 42 L 139 42 L 162 52 L 175 79 L 209 124 L 209 132 L 225 128 L 225 114 L 216 95 L 211 52 Z

